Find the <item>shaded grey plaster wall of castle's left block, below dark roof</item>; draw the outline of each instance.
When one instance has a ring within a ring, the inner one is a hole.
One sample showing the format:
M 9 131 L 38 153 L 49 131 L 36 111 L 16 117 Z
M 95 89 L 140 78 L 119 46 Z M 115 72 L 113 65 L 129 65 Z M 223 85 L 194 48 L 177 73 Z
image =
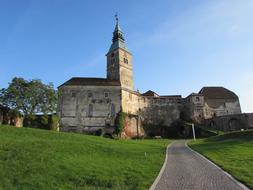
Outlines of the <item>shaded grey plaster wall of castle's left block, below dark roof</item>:
M 114 126 L 121 107 L 120 87 L 63 86 L 59 92 L 58 114 L 62 131 L 85 132 Z

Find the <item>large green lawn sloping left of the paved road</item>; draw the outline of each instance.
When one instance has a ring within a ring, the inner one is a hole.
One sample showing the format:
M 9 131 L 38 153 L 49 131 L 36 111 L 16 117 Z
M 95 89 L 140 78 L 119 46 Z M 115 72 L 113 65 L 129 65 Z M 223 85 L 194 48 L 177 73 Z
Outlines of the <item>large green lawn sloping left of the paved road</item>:
M 168 143 L 0 125 L 0 189 L 148 189 Z

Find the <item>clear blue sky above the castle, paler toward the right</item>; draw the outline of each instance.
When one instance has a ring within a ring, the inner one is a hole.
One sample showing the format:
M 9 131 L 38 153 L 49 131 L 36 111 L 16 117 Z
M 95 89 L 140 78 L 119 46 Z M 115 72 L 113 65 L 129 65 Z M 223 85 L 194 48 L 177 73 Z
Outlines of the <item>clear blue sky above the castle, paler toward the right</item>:
M 58 86 L 105 77 L 118 12 L 135 88 L 224 86 L 253 111 L 252 0 L 0 0 L 0 88 L 15 76 Z

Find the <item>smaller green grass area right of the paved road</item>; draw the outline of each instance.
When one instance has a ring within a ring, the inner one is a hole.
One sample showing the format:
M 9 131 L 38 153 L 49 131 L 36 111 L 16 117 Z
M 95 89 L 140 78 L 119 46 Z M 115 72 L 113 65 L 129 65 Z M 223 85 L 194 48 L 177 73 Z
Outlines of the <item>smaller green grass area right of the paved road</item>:
M 192 141 L 189 145 L 253 189 L 253 130 Z

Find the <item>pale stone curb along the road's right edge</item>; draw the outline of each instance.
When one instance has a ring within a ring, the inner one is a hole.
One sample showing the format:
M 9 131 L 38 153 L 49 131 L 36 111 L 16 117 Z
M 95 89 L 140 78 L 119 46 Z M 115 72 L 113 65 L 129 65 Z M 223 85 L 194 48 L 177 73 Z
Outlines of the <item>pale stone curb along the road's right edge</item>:
M 244 184 L 242 184 L 241 182 L 239 182 L 238 180 L 236 180 L 232 175 L 230 175 L 228 172 L 224 171 L 222 168 L 220 168 L 218 165 L 216 165 L 214 162 L 212 162 L 211 160 L 207 159 L 205 156 L 203 156 L 202 154 L 198 153 L 197 151 L 193 150 L 192 148 L 190 148 L 187 144 L 187 141 L 185 142 L 185 146 L 192 151 L 193 153 L 197 154 L 198 156 L 200 156 L 202 159 L 206 160 L 207 162 L 209 162 L 210 164 L 212 164 L 213 166 L 215 166 L 218 170 L 220 170 L 221 172 L 223 172 L 229 179 L 231 179 L 234 183 L 236 183 L 238 186 L 240 186 L 243 190 L 250 190 L 248 187 L 246 187 Z

